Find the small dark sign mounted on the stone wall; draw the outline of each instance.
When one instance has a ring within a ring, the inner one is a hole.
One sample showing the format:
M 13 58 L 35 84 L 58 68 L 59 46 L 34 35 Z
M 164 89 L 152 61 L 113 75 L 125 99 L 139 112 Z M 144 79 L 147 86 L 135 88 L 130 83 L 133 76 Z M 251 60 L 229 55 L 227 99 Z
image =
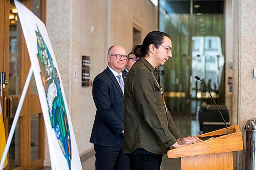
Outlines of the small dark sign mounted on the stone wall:
M 89 56 L 82 56 L 82 87 L 83 86 L 90 86 L 90 57 Z

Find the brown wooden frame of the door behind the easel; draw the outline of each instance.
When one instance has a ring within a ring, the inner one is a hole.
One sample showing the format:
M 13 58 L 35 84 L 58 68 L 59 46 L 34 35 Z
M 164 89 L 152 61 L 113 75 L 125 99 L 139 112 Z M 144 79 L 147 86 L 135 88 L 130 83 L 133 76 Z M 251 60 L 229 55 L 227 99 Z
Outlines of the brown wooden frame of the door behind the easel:
M 27 8 L 31 9 L 33 0 L 20 1 Z M 46 21 L 46 0 L 40 1 L 40 19 Z M 9 13 L 10 13 L 10 1 L 0 0 L 0 72 L 6 72 L 6 80 L 9 80 Z M 20 26 L 19 26 L 20 27 Z M 9 86 L 6 85 L 4 96 L 1 98 L 1 105 L 3 107 L 3 113 L 6 112 L 5 98 L 18 97 L 22 93 L 24 88 L 28 72 L 31 66 L 29 54 L 25 38 L 20 28 L 19 38 L 19 57 L 20 57 L 20 81 L 19 81 L 19 94 L 8 95 Z M 3 36 L 2 36 L 3 35 Z M 31 115 L 38 114 L 38 158 L 35 161 L 31 161 Z M 6 132 L 6 139 L 8 138 L 9 131 L 9 118 L 4 114 L 4 125 Z M 45 125 L 44 118 L 42 116 L 41 106 L 39 102 L 38 94 L 31 93 L 31 86 L 26 93 L 26 97 L 23 103 L 22 110 L 20 111 L 18 121 L 18 158 L 19 167 L 15 169 L 37 169 L 44 165 L 45 160 Z M 9 158 L 9 155 L 8 155 Z M 9 164 L 6 169 L 9 169 Z

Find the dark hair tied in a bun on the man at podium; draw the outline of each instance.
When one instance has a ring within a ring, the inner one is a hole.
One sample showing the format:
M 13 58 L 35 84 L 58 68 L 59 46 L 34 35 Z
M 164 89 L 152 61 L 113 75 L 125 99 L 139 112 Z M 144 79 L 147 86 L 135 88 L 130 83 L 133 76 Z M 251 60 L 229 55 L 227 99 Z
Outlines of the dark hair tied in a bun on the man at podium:
M 145 57 L 145 55 L 148 53 L 148 47 L 150 46 L 150 44 L 154 44 L 156 48 L 158 48 L 159 44 L 163 43 L 164 37 L 168 37 L 170 39 L 170 36 L 168 34 L 163 33 L 161 31 L 152 31 L 148 33 L 144 38 L 142 45 L 135 45 L 135 56 Z

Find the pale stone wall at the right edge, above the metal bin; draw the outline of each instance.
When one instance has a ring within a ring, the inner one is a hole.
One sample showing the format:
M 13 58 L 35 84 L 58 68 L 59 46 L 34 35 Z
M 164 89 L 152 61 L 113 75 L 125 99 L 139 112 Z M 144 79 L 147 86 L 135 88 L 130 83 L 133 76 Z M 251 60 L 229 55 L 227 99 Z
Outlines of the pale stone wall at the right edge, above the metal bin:
M 256 78 L 253 68 L 256 67 L 256 2 L 254 0 L 240 0 L 239 11 L 239 123 L 243 125 L 248 119 L 256 118 L 255 101 Z

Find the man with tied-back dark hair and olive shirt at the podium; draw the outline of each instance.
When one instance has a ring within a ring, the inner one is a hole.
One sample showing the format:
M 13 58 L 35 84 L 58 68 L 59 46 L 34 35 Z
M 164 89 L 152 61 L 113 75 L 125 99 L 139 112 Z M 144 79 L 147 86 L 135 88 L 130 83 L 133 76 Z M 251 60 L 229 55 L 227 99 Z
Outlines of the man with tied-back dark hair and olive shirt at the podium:
M 124 88 L 124 146 L 130 169 L 160 169 L 169 149 L 202 141 L 182 138 L 165 105 L 157 68 L 172 57 L 169 35 L 153 31 L 135 46 L 139 60 L 129 70 Z

